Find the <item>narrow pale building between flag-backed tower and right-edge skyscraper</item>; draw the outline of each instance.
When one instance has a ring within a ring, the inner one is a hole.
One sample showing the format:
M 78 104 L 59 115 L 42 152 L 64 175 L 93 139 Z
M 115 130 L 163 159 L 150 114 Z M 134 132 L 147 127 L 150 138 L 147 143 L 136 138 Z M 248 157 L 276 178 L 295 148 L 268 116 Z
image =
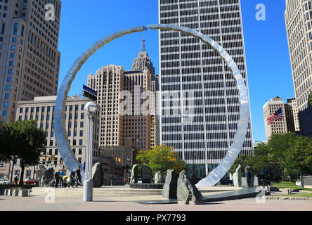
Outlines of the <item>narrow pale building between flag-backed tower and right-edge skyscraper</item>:
M 285 104 L 287 129 L 289 132 L 299 132 L 298 107 L 296 98 L 287 98 Z

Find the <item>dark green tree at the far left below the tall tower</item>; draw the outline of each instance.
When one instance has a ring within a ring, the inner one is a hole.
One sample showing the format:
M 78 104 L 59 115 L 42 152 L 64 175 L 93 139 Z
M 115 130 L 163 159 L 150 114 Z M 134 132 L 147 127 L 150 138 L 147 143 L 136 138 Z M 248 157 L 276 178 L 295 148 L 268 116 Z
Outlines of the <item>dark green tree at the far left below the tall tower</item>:
M 8 125 L 1 124 L 1 139 L 6 138 L 5 148 L 0 148 L 0 155 L 13 160 L 20 159 L 20 184 L 23 182 L 25 166 L 37 165 L 41 152 L 45 149 L 46 134 L 38 129 L 35 120 L 15 121 Z

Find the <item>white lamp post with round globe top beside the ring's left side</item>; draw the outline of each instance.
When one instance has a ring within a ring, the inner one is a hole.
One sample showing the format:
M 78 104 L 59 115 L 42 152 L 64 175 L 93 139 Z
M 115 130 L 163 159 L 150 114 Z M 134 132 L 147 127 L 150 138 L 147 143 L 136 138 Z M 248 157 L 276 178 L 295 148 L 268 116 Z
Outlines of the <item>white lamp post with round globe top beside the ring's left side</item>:
M 86 124 L 86 165 L 84 174 L 84 192 L 83 201 L 91 202 L 93 198 L 93 181 L 92 181 L 92 141 L 93 141 L 93 118 L 98 106 L 96 103 L 89 102 L 84 106 L 84 112 L 88 115 Z

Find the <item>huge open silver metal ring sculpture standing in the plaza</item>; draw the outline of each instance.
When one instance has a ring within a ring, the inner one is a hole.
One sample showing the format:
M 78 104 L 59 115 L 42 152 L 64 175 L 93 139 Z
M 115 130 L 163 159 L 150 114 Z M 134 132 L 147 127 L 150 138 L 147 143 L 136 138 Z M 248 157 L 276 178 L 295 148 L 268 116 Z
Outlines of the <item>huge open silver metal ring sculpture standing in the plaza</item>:
M 245 141 L 245 136 L 247 134 L 248 123 L 249 123 L 249 101 L 248 101 L 248 93 L 247 87 L 245 85 L 244 79 L 238 69 L 238 66 L 234 62 L 234 60 L 230 57 L 230 55 L 222 49 L 216 41 L 210 39 L 206 35 L 192 30 L 187 27 L 182 27 L 178 25 L 163 25 L 163 24 L 155 24 L 148 25 L 148 28 L 151 30 L 174 30 L 177 32 L 183 32 L 185 34 L 189 34 L 197 39 L 200 39 L 205 44 L 216 51 L 216 53 L 223 58 L 223 60 L 228 65 L 228 68 L 233 72 L 233 76 L 236 80 L 238 91 L 239 91 L 239 100 L 240 100 L 240 120 L 238 122 L 238 130 L 234 136 L 234 140 L 232 145 L 228 148 L 228 153 L 226 157 L 221 160 L 220 164 L 216 169 L 214 169 L 206 178 L 202 179 L 197 187 L 201 186 L 214 186 L 230 169 L 233 165 L 235 159 L 238 157 L 240 153 L 240 149 L 242 148 L 242 144 Z M 118 37 L 122 37 L 125 34 L 131 34 L 134 32 L 142 32 L 147 30 L 145 27 L 133 27 L 126 30 L 122 30 L 119 32 L 115 32 L 114 34 L 110 34 L 108 37 L 101 39 L 100 41 L 93 44 L 89 49 L 87 49 L 82 56 L 80 56 L 75 63 L 72 65 L 70 70 L 65 75 L 63 83 L 60 86 L 60 90 L 58 91 L 58 98 L 56 99 L 56 107 L 54 113 L 54 129 L 56 131 L 56 142 L 58 143 L 58 149 L 60 151 L 60 155 L 65 162 L 65 165 L 68 169 L 72 170 L 77 168 L 79 162 L 74 157 L 72 150 L 70 148 L 70 143 L 67 141 L 67 135 L 65 130 L 65 104 L 67 101 L 67 94 L 70 90 L 70 86 L 74 77 L 77 75 L 77 72 L 82 67 L 82 65 L 86 62 L 86 60 L 95 53 L 98 49 L 103 47 L 108 42 L 117 39 Z M 82 170 L 82 177 L 84 178 L 84 170 Z

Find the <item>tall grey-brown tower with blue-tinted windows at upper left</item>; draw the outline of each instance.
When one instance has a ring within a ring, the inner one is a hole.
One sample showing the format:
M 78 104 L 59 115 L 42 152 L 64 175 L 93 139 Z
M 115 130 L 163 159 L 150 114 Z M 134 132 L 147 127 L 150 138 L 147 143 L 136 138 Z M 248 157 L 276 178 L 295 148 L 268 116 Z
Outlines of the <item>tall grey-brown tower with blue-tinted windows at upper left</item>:
M 53 4 L 55 20 L 46 20 Z M 60 0 L 0 2 L 0 120 L 15 120 L 18 101 L 58 91 Z

